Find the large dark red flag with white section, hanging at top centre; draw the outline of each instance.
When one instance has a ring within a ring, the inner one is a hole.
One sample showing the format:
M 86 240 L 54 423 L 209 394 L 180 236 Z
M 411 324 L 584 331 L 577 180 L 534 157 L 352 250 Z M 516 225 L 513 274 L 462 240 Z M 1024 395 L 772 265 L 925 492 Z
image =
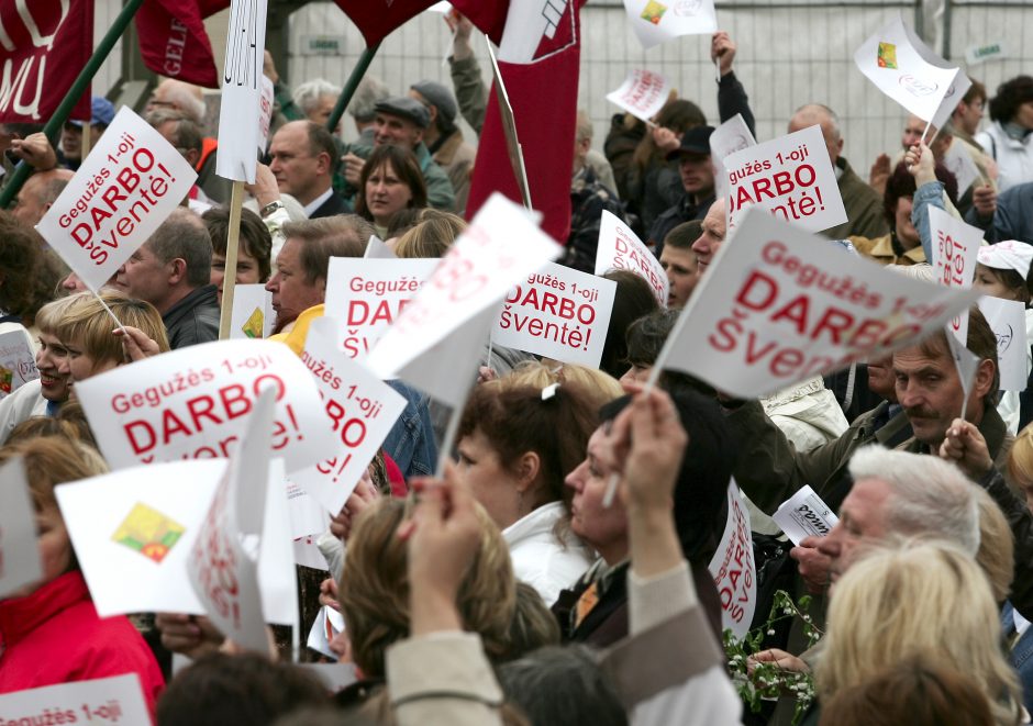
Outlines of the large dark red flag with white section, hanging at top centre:
M 578 12 L 584 0 L 453 0 L 452 4 L 499 42 L 499 72 L 513 108 L 531 203 L 544 215 L 542 228 L 564 241 L 570 231 L 581 54 Z M 521 201 L 492 91 L 470 179 L 467 219 L 493 191 Z

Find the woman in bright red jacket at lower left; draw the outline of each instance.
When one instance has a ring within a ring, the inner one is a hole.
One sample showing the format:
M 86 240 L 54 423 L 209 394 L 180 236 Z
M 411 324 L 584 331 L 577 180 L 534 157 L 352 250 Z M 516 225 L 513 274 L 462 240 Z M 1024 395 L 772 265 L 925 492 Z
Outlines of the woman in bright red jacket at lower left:
M 165 686 L 154 655 L 126 617 L 97 616 L 54 496 L 60 483 L 104 473 L 103 460 L 56 436 L 3 447 L 0 465 L 18 456 L 35 509 L 43 579 L 0 600 L 0 693 L 136 673 L 153 714 Z

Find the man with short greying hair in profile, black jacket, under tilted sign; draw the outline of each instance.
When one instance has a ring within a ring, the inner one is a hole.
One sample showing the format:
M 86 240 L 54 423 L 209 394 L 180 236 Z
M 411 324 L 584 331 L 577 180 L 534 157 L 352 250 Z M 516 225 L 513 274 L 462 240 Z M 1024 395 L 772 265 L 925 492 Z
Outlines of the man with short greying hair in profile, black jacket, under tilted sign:
M 212 239 L 204 223 L 177 208 L 119 268 L 114 287 L 157 308 L 175 350 L 219 339 L 211 270 Z

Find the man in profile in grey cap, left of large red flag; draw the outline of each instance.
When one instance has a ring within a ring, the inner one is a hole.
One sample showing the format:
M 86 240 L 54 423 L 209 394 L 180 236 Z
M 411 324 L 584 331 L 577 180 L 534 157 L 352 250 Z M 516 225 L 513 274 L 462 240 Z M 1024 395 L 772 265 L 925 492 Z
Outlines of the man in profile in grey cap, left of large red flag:
M 431 114 L 431 124 L 423 133 L 423 143 L 437 166 L 448 175 L 456 193 L 456 211 L 462 214 L 470 192 L 470 171 L 477 149 L 464 141 L 463 132 L 455 123 L 458 111 L 455 97 L 433 80 L 413 83 L 409 87 L 409 96 L 426 107 Z

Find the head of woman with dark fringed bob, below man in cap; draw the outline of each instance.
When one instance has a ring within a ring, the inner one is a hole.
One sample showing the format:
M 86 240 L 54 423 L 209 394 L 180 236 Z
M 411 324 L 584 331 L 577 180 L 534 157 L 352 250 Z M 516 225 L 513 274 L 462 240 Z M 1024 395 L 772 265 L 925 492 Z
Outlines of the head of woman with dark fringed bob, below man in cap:
M 426 185 L 415 155 L 401 146 L 377 146 L 359 177 L 355 212 L 374 223 L 377 235 L 388 238 L 391 215 L 403 209 L 426 206 Z

